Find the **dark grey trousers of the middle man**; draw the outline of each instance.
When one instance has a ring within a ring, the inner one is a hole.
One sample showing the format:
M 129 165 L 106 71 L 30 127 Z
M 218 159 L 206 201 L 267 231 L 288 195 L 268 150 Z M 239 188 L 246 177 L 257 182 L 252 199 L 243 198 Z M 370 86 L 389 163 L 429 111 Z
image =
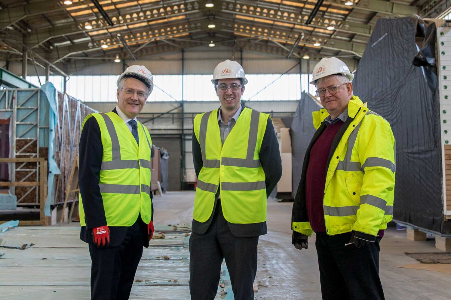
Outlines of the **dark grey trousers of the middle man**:
M 213 300 L 218 290 L 222 260 L 226 260 L 235 300 L 253 300 L 257 273 L 257 237 L 235 237 L 218 201 L 212 223 L 204 234 L 189 237 L 189 291 L 192 300 Z

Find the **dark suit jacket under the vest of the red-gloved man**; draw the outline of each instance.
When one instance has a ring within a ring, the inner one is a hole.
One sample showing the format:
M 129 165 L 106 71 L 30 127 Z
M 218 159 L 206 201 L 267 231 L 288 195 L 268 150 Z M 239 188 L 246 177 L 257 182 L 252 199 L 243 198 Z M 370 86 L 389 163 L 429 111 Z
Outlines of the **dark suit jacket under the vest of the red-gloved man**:
M 116 108 L 113 112 L 117 114 Z M 99 180 L 102 165 L 103 146 L 101 142 L 100 127 L 96 118 L 89 118 L 83 126 L 80 136 L 80 162 L 78 166 L 78 182 L 83 198 L 86 226 L 80 230 L 80 239 L 92 243 L 92 228 L 106 225 L 103 199 L 100 193 Z M 152 191 L 150 192 L 152 199 Z M 153 204 L 152 204 L 153 220 Z M 137 222 L 143 230 L 144 246 L 149 246 L 147 224 L 138 215 Z M 110 228 L 110 246 L 119 246 L 123 241 L 129 227 L 108 226 Z

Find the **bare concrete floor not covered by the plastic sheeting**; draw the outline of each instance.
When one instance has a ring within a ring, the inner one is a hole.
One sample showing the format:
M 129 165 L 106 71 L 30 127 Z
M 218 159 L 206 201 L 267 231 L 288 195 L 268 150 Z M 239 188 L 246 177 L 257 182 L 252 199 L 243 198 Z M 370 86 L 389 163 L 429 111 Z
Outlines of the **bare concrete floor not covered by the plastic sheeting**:
M 170 192 L 155 197 L 155 222 L 190 223 L 193 201 L 194 192 Z M 258 243 L 257 300 L 321 299 L 314 236 L 309 239 L 308 250 L 299 251 L 291 245 L 292 206 L 293 202 L 268 200 L 268 233 Z M 386 299 L 450 300 L 451 265 L 440 269 L 441 272 L 410 269 L 424 264 L 404 254 L 440 251 L 435 248 L 435 241 L 412 242 L 406 236 L 405 230 L 390 227 L 381 241 L 380 275 Z

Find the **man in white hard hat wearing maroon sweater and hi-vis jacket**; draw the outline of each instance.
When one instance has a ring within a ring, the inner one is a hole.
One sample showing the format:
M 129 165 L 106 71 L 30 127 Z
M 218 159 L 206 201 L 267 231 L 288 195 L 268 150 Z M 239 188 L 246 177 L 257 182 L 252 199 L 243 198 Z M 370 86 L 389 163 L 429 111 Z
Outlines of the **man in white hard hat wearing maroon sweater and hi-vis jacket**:
M 322 299 L 384 299 L 379 242 L 393 218 L 395 138 L 390 124 L 353 95 L 338 58 L 313 69 L 324 107 L 304 157 L 292 212 L 292 244 L 316 233 Z

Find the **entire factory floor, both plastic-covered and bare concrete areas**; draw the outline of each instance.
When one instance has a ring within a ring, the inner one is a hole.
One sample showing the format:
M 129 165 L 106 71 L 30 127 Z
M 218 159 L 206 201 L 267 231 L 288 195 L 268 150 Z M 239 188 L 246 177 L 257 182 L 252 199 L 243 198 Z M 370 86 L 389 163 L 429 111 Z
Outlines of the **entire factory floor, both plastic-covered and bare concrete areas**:
M 156 231 L 166 231 L 166 238 L 153 240 L 154 246 L 144 250 L 130 299 L 189 299 L 189 237 L 183 224 L 191 223 L 193 200 L 191 191 L 154 197 Z M 291 207 L 292 202 L 268 201 L 268 233 L 258 244 L 257 300 L 321 299 L 314 236 L 308 250 L 299 251 L 291 245 Z M 5 232 L 0 246 L 35 245 L 24 250 L 0 248 L 0 256 L 5 253 L 0 259 L 1 299 L 89 299 L 89 253 L 78 239 L 75 226 L 21 226 Z M 440 250 L 433 239 L 412 242 L 407 240 L 405 230 L 387 229 L 380 253 L 387 300 L 451 299 L 451 264 L 421 264 L 404 253 L 434 251 Z M 224 274 L 224 290 L 230 291 Z M 216 299 L 233 297 L 218 294 Z

